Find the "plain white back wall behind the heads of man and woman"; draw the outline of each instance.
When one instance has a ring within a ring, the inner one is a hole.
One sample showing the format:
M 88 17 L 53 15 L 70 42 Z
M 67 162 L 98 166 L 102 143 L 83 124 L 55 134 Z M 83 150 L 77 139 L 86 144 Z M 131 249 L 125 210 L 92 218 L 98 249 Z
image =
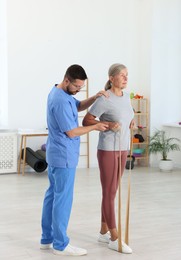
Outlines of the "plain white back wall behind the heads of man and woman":
M 128 66 L 132 90 L 148 85 L 148 69 L 139 76 L 149 67 L 140 1 L 7 2 L 10 127 L 46 125 L 47 94 L 72 63 L 85 67 L 90 95 L 103 88 L 114 62 Z

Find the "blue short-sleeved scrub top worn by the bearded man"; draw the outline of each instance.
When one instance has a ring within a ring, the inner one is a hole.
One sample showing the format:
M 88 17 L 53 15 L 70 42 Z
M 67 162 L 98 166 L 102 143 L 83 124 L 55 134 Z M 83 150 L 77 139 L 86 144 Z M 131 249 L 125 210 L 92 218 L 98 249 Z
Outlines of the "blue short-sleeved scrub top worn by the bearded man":
M 56 86 L 48 95 L 46 160 L 49 166 L 74 168 L 78 164 L 80 137 L 70 138 L 65 132 L 78 127 L 79 104 L 80 101 Z

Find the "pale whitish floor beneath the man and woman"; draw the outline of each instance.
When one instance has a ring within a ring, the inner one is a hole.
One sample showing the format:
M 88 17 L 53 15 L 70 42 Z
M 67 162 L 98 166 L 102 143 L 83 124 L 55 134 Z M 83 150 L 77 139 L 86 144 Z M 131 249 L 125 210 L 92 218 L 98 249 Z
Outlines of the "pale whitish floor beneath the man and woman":
M 122 219 L 125 217 L 127 174 L 122 181 Z M 0 175 L 0 259 L 70 259 L 41 251 L 40 218 L 48 181 L 46 173 Z M 130 246 L 124 255 L 97 242 L 101 187 L 98 169 L 78 169 L 68 234 L 71 243 L 88 250 L 76 259 L 181 259 L 181 170 L 159 172 L 134 168 L 131 176 Z M 117 203 L 116 203 L 117 205 Z

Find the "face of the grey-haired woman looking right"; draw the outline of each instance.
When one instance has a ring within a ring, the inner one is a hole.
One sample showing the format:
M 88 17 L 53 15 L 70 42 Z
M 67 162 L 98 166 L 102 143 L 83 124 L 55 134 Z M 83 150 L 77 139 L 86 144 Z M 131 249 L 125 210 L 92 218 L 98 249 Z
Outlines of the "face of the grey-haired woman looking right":
M 122 69 L 119 74 L 110 77 L 112 85 L 116 88 L 124 89 L 128 82 L 128 71 L 127 69 Z

